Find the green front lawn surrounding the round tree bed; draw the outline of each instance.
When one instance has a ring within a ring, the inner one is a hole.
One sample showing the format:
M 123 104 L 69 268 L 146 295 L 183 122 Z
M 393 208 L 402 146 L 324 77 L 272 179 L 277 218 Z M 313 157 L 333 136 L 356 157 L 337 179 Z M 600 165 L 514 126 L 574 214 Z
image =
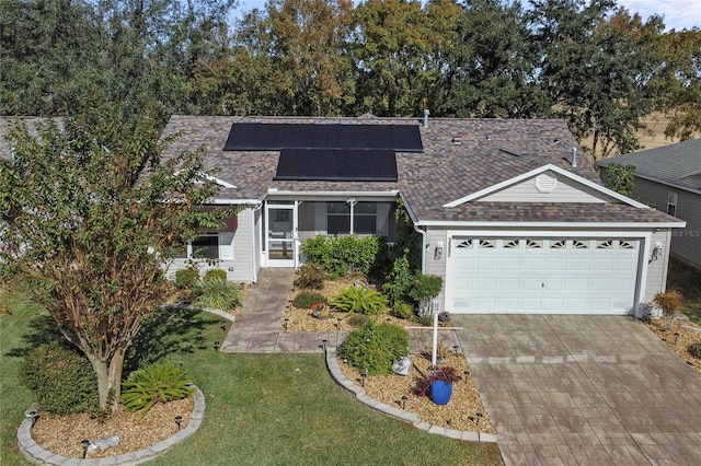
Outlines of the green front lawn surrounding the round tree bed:
M 22 354 L 47 330 L 36 306 L 13 298 L 11 308 L 12 315 L 0 315 L 3 466 L 30 464 L 18 451 L 16 428 L 32 395 L 16 372 Z M 139 354 L 131 364 L 182 362 L 207 401 L 199 431 L 150 464 L 502 464 L 496 444 L 428 434 L 356 401 L 332 382 L 321 353 L 215 352 L 220 325 L 209 314 L 170 311 L 135 343 Z

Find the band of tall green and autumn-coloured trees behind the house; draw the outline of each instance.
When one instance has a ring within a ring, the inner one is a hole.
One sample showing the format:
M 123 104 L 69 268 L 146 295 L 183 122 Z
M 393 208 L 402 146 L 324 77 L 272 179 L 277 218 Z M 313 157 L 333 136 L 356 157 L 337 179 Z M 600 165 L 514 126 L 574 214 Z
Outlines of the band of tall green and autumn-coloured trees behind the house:
M 563 118 L 595 158 L 701 131 L 701 30 L 616 0 L 2 0 L 0 114 Z

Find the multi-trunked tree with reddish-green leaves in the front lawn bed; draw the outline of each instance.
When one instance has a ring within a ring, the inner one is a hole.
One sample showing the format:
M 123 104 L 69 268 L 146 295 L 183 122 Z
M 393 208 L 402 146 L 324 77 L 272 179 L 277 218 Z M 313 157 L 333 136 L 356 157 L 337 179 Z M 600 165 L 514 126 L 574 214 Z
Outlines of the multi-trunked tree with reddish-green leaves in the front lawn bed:
M 163 160 L 151 121 L 73 121 L 11 131 L 0 160 L 0 264 L 28 281 L 61 334 L 92 363 L 103 408 L 116 407 L 125 352 L 166 290 L 169 252 L 230 211 L 200 153 Z

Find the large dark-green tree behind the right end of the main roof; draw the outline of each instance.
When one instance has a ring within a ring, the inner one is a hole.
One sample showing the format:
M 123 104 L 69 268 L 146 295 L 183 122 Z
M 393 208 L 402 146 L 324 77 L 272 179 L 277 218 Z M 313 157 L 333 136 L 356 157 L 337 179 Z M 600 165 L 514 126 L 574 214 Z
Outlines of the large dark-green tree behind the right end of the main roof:
M 595 159 L 636 149 L 635 131 L 654 103 L 646 84 L 659 61 L 650 40 L 663 27 L 659 18 L 642 24 L 616 12 L 614 0 L 531 3 L 537 69 L 555 115 Z

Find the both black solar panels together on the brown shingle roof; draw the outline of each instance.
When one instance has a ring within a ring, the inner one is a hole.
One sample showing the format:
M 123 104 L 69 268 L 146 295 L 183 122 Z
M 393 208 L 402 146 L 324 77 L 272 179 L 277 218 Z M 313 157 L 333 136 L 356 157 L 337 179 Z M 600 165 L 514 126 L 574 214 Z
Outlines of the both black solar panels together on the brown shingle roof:
M 225 151 L 279 151 L 274 179 L 395 182 L 397 152 L 421 152 L 416 125 L 235 123 Z

